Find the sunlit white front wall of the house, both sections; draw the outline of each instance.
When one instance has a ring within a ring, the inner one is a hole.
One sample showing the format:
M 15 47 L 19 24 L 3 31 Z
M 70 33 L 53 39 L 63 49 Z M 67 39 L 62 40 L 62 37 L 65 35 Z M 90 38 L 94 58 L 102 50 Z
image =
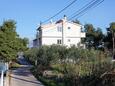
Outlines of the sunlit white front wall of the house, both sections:
M 58 26 L 62 26 L 62 23 L 49 24 L 42 27 L 42 45 L 52 45 L 57 44 L 57 40 L 62 40 L 62 32 L 57 30 Z M 68 29 L 70 27 L 70 29 Z M 81 32 L 81 26 L 69 22 L 63 23 L 63 36 L 64 45 L 72 46 L 78 45 L 81 41 L 81 37 L 85 37 L 85 33 Z M 70 40 L 70 41 L 68 41 Z

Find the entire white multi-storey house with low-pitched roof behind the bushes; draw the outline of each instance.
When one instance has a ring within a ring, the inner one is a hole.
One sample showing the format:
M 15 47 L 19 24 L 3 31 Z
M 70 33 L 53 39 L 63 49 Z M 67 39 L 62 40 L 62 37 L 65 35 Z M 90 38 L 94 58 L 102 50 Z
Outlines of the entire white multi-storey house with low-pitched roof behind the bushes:
M 78 46 L 85 33 L 81 31 L 82 25 L 68 21 L 66 17 L 48 24 L 40 25 L 37 29 L 33 47 L 42 45 L 59 44 L 65 46 Z

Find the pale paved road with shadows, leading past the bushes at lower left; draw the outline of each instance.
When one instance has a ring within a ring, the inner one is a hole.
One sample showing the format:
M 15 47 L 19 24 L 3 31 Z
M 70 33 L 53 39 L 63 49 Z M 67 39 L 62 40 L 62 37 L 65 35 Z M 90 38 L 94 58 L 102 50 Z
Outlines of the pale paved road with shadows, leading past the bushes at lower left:
M 24 62 L 24 59 L 23 59 Z M 24 62 L 26 63 L 26 62 Z M 10 86 L 43 86 L 41 82 L 30 73 L 27 65 L 11 71 Z

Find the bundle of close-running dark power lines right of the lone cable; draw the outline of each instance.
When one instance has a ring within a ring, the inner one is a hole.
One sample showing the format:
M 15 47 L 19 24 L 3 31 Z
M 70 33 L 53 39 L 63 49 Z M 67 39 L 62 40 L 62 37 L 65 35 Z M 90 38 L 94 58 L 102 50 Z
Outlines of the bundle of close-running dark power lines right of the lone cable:
M 86 12 L 88 9 L 90 9 L 90 8 L 92 8 L 93 6 L 98 6 L 99 4 L 101 4 L 102 2 L 103 2 L 104 0 L 92 0 L 91 2 L 89 2 L 88 4 L 86 4 L 85 6 L 83 6 L 81 9 L 79 9 L 77 12 L 75 12 L 75 13 L 77 13 L 77 14 L 75 14 L 74 16 L 72 16 L 71 18 L 70 18 L 70 20 L 71 19 L 73 19 L 73 18 L 75 18 L 76 16 L 79 16 L 79 15 L 81 15 L 82 13 L 84 13 L 84 12 Z M 95 7 L 96 7 L 95 6 Z M 81 15 L 82 16 L 82 15 Z M 79 16 L 80 17 L 80 16 Z

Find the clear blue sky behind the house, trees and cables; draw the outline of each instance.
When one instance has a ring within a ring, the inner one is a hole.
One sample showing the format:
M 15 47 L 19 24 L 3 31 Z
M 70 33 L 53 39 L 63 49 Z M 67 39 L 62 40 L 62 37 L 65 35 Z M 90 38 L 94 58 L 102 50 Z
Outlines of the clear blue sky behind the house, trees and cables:
M 39 22 L 53 16 L 71 1 L 73 0 L 0 0 L 0 24 L 4 20 L 13 19 L 17 22 L 18 34 L 33 39 Z M 89 1 L 78 0 L 53 20 L 62 18 L 64 14 L 70 16 Z M 105 0 L 79 20 L 82 24 L 92 23 L 106 31 L 109 23 L 115 22 L 115 0 Z

